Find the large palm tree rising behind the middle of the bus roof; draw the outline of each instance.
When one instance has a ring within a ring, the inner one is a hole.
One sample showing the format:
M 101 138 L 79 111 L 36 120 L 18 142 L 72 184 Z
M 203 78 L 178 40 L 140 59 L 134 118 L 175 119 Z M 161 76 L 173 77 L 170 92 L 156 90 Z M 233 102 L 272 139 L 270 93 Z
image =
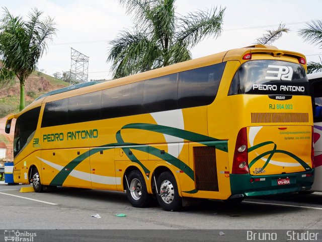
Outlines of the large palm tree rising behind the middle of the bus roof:
M 190 49 L 206 37 L 217 38 L 225 8 L 176 15 L 175 0 L 119 0 L 134 27 L 109 44 L 107 62 L 120 78 L 191 59 Z

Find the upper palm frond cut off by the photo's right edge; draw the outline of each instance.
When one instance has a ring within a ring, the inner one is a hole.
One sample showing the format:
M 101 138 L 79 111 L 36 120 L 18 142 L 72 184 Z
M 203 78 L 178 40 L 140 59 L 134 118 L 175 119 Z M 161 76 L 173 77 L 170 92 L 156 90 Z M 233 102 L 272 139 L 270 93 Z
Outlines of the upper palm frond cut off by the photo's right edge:
M 322 47 L 322 21 L 316 20 L 306 24 L 306 28 L 300 29 L 298 34 L 304 41 Z

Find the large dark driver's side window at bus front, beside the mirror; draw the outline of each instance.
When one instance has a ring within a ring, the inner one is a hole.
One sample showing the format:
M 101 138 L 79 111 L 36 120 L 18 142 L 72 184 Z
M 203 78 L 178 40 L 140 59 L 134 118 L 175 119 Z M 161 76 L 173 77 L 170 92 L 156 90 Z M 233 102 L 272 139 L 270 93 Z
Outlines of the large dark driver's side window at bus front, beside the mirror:
M 40 107 L 35 107 L 17 118 L 14 137 L 14 157 L 32 140 L 38 123 Z

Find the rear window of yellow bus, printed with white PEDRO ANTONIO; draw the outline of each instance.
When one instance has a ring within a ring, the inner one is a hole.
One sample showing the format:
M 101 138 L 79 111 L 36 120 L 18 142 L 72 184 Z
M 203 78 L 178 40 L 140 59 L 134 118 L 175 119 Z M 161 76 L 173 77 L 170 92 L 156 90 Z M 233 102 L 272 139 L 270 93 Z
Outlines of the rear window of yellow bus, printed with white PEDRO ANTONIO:
M 228 92 L 236 94 L 309 95 L 309 86 L 301 65 L 263 59 L 239 67 Z

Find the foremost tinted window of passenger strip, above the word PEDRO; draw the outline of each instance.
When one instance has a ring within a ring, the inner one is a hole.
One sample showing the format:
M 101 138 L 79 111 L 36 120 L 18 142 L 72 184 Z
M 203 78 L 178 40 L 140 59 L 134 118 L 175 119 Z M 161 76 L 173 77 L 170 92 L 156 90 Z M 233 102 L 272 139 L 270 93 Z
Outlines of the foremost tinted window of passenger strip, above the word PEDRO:
M 68 98 L 47 102 L 42 117 L 41 127 L 67 124 Z

